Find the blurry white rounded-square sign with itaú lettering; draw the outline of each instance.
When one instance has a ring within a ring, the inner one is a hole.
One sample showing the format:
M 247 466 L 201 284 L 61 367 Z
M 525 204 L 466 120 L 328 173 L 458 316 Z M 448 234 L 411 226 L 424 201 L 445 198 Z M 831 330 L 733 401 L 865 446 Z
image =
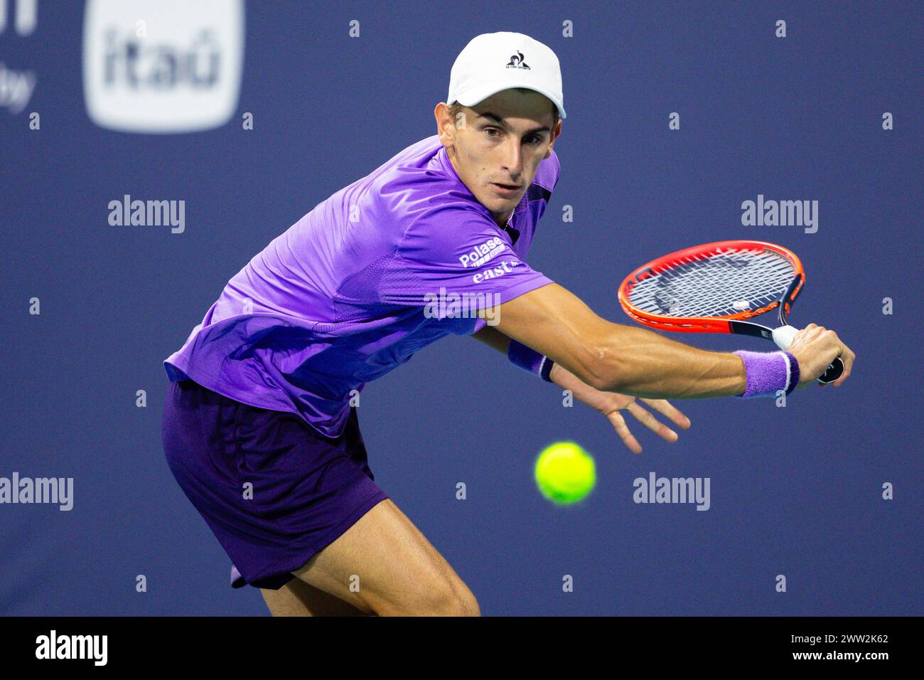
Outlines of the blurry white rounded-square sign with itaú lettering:
M 237 108 L 243 57 L 243 0 L 87 1 L 84 98 L 102 128 L 225 125 Z

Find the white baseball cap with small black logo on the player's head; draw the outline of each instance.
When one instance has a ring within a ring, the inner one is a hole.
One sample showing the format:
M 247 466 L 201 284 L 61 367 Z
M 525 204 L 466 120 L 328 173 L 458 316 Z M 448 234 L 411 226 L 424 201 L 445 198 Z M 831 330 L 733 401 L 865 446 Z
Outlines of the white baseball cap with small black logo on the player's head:
M 523 33 L 481 33 L 456 56 L 446 104 L 474 106 L 515 87 L 544 94 L 558 108 L 558 116 L 565 117 L 562 70 L 555 53 Z

